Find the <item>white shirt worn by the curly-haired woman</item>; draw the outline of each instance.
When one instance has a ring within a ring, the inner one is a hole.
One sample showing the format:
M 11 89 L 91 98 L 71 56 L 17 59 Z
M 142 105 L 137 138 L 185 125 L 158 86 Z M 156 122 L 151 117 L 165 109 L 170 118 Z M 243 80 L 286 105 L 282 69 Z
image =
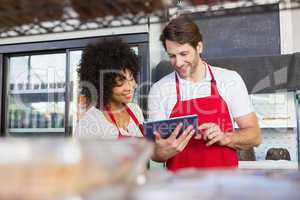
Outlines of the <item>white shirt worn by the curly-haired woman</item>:
M 144 121 L 143 113 L 140 107 L 137 104 L 129 103 L 128 107 L 136 116 L 138 121 L 142 123 Z M 120 128 L 120 132 L 124 136 L 136 136 L 142 137 L 139 127 L 135 124 L 133 119 L 130 117 L 129 124 L 127 126 L 127 130 Z M 75 137 L 100 137 L 103 139 L 117 139 L 119 136 L 118 128 L 109 122 L 104 113 L 97 109 L 96 107 L 91 107 L 86 111 L 83 118 L 79 120 L 76 125 Z

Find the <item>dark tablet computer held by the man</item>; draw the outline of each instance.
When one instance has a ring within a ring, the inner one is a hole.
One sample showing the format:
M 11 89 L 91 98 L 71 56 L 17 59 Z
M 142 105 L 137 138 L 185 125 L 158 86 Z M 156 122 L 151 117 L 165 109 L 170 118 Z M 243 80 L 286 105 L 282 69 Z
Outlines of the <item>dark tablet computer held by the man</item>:
M 182 123 L 183 127 L 179 135 L 189 126 L 192 125 L 195 130 L 198 128 L 198 115 L 186 115 L 165 120 L 149 121 L 143 123 L 145 137 L 154 141 L 154 131 L 158 131 L 162 138 L 168 138 L 176 126 Z M 178 136 L 179 136 L 178 135 Z

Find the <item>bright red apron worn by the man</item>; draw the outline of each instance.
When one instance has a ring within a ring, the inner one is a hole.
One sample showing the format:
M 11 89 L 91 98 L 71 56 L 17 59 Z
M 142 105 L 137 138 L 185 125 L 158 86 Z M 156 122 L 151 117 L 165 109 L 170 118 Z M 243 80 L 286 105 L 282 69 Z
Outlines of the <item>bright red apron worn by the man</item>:
M 233 131 L 233 123 L 230 118 L 228 106 L 220 96 L 213 73 L 208 66 L 211 75 L 211 96 L 181 100 L 179 79 L 175 74 L 177 102 L 172 109 L 170 118 L 184 115 L 198 115 L 198 125 L 203 123 L 215 123 L 223 132 Z M 192 138 L 185 149 L 167 161 L 167 168 L 176 171 L 181 168 L 212 168 L 212 167 L 237 167 L 236 151 L 232 148 L 214 144 L 207 147 L 206 142 Z

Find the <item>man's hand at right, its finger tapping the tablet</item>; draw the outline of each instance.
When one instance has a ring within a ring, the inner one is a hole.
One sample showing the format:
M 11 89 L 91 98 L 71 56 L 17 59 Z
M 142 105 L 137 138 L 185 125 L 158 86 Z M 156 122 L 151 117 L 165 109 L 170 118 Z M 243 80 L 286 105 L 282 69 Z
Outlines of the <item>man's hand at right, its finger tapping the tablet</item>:
M 198 134 L 195 136 L 196 139 L 203 138 L 207 141 L 206 145 L 211 146 L 218 144 L 226 146 L 230 143 L 230 139 L 224 134 L 220 127 L 215 123 L 204 123 L 198 127 Z

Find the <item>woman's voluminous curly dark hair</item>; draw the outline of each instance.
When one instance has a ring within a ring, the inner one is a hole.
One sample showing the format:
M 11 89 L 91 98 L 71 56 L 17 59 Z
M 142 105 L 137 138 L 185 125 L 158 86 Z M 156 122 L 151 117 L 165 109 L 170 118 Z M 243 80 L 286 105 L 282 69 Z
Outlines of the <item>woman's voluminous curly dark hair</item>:
M 116 79 L 126 79 L 122 75 L 125 70 L 132 73 L 137 82 L 138 57 L 127 43 L 117 38 L 89 44 L 83 51 L 77 69 L 81 94 L 86 96 L 88 104 L 96 103 L 98 108 L 107 105 L 111 100 L 112 89 L 117 85 Z

